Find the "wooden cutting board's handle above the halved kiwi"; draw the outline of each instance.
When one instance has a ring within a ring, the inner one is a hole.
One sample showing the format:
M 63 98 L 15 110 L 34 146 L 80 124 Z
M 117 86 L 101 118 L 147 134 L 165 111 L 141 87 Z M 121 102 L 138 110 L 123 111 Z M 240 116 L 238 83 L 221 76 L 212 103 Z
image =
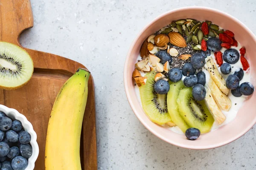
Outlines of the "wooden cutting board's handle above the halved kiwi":
M 30 0 L 0 1 L 0 40 L 19 44 L 20 34 L 33 27 Z

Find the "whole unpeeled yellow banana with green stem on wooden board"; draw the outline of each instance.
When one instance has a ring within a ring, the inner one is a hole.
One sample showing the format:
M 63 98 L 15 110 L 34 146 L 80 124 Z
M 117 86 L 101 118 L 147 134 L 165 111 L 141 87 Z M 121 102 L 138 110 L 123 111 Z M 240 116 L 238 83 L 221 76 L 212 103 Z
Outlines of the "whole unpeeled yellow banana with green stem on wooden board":
M 45 170 L 81 170 L 80 137 L 90 72 L 79 68 L 65 82 L 49 118 Z

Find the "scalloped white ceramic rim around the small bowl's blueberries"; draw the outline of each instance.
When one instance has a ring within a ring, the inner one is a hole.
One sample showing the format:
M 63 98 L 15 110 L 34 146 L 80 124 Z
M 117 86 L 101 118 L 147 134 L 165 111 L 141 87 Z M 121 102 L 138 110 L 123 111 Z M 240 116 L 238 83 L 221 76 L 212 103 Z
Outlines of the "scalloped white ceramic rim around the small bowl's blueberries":
M 30 145 L 32 146 L 32 156 L 28 159 L 28 166 L 25 170 L 33 170 L 35 167 L 35 161 L 38 158 L 39 154 L 39 147 L 38 143 L 36 142 L 37 135 L 33 130 L 32 124 L 26 119 L 23 114 L 20 114 L 17 110 L 8 108 L 4 105 L 0 105 L 0 111 L 6 113 L 8 117 L 11 119 L 19 120 L 22 123 L 24 130 L 26 130 L 31 135 Z

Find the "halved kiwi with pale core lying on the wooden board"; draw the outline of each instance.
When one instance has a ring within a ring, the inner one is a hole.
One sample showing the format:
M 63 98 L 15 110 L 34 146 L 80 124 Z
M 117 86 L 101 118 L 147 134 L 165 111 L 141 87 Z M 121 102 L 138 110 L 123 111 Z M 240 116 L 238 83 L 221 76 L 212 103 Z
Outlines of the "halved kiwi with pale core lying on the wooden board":
M 9 42 L 0 42 L 0 88 L 22 87 L 32 77 L 33 71 L 33 61 L 24 49 Z

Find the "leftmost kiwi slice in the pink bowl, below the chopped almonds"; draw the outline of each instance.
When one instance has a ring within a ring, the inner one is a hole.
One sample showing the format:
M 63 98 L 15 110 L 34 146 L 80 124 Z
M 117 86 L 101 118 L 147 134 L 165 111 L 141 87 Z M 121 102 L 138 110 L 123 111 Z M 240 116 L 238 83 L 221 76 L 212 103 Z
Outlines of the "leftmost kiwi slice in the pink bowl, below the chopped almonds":
M 167 94 L 157 94 L 154 91 L 155 75 L 155 71 L 151 71 L 145 75 L 147 82 L 140 87 L 140 98 L 143 110 L 148 115 L 149 119 L 154 123 L 163 125 L 172 121 L 172 119 L 167 110 Z

